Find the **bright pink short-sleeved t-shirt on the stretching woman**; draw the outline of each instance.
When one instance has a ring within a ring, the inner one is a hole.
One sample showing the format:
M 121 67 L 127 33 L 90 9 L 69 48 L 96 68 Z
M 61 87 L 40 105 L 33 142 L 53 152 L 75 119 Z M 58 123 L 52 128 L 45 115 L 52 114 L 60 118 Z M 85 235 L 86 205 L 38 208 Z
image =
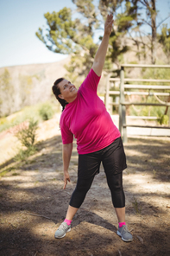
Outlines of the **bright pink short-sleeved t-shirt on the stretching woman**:
M 72 143 L 74 135 L 79 154 L 102 150 L 121 136 L 104 102 L 98 97 L 99 80 L 91 68 L 79 87 L 77 98 L 66 105 L 60 117 L 63 144 Z

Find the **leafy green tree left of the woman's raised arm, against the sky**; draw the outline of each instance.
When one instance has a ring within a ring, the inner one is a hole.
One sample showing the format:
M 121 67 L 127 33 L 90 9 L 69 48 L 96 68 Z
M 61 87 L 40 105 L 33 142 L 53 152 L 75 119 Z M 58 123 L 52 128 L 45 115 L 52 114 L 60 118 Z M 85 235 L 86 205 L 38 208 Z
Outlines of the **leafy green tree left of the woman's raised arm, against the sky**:
M 79 18 L 73 21 L 72 11 L 65 7 L 59 12 L 54 11 L 52 14 L 47 12 L 44 15 L 47 19 L 47 28 L 40 28 L 36 32 L 38 38 L 45 43 L 49 50 L 60 54 L 72 54 L 72 67 L 67 67 L 70 73 L 72 71 L 76 73 L 76 68 L 81 65 L 80 59 L 82 59 L 83 64 L 86 62 L 89 63 L 89 66 L 91 65 L 97 50 L 97 45 L 92 38 L 93 30 L 98 28 L 96 12 L 91 1 L 89 0 L 89 4 L 86 5 L 80 4 L 81 1 L 73 2 L 78 4 L 79 12 L 85 14 L 85 22 L 81 22 Z M 84 66 L 83 74 L 87 74 L 89 66 Z

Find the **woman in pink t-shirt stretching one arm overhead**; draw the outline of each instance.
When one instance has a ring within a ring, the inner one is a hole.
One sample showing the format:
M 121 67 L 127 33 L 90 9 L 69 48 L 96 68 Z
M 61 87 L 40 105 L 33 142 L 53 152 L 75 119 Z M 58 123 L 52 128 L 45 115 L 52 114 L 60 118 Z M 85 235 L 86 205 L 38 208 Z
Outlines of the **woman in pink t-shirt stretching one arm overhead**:
M 55 232 L 62 238 L 71 230 L 73 216 L 84 202 L 94 176 L 102 162 L 110 188 L 113 206 L 118 219 L 117 234 L 124 241 L 131 241 L 125 222 L 125 196 L 123 192 L 123 170 L 127 167 L 121 134 L 113 124 L 104 103 L 98 98 L 97 88 L 113 25 L 113 16 L 108 15 L 104 24 L 104 37 L 95 55 L 90 73 L 79 87 L 79 91 L 68 80 L 54 82 L 53 92 L 63 106 L 60 130 L 63 142 L 64 188 L 70 182 L 68 167 L 72 155 L 73 135 L 77 139 L 79 153 L 78 181 L 72 193 L 66 219 Z

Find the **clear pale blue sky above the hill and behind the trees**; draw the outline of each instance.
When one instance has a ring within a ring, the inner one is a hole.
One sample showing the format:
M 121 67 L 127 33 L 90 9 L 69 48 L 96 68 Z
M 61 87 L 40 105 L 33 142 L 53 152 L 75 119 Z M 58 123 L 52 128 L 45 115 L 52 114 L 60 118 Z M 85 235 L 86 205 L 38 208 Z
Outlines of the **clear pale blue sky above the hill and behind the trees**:
M 98 2 L 98 0 L 96 0 Z M 170 14 L 170 0 L 157 0 L 158 21 Z M 49 51 L 35 32 L 46 25 L 44 14 L 67 7 L 72 0 L 0 0 L 0 67 L 60 61 L 66 55 Z M 167 20 L 170 28 L 170 18 Z

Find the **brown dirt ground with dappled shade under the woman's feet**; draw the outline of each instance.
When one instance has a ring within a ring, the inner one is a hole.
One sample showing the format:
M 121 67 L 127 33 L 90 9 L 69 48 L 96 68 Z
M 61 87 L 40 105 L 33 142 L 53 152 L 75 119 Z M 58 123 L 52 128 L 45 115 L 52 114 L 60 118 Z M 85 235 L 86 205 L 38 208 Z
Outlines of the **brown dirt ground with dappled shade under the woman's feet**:
M 123 242 L 116 234 L 116 214 L 102 166 L 72 221 L 72 231 L 56 240 L 54 232 L 65 218 L 76 185 L 78 159 L 74 144 L 71 182 L 63 190 L 62 144 L 56 130 L 54 119 L 40 126 L 38 151 L 20 167 L 3 157 L 2 170 L 13 169 L 0 179 L 0 255 L 170 255 L 170 138 L 129 138 L 124 144 L 128 169 L 123 171 L 123 187 L 132 242 Z M 10 154 L 16 139 L 3 133 L 0 144 Z

